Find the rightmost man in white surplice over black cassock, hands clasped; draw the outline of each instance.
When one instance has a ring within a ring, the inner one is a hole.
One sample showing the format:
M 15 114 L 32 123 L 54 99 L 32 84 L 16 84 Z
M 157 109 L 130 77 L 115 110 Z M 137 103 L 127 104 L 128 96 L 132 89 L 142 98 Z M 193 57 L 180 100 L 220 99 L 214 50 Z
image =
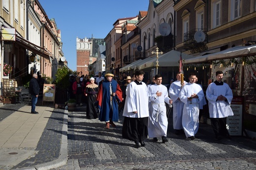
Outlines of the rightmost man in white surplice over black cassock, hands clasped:
M 226 117 L 234 115 L 230 107 L 233 94 L 231 88 L 222 82 L 223 72 L 217 71 L 215 75 L 216 81 L 211 83 L 206 90 L 210 119 L 215 138 L 221 140 L 224 136 L 230 139 L 226 129 Z

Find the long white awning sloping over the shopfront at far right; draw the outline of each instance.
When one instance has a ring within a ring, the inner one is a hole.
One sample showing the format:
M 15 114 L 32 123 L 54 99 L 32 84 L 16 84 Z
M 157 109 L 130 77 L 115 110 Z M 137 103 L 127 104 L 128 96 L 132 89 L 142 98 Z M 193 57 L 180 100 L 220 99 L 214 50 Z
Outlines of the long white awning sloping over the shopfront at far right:
M 229 48 L 217 53 L 186 59 L 185 64 L 200 63 L 200 62 L 219 60 L 219 59 L 227 59 L 232 57 L 245 57 L 245 56 L 251 56 L 251 55 L 253 56 L 256 55 L 256 45 L 237 46 L 237 47 Z

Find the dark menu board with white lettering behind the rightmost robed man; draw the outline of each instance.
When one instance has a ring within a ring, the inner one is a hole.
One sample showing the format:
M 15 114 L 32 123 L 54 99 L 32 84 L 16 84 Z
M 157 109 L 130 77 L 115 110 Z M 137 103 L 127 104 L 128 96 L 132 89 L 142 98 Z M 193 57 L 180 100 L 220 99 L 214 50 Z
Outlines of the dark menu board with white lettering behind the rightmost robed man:
M 241 136 L 242 135 L 242 115 L 243 115 L 243 97 L 233 96 L 230 105 L 234 115 L 226 118 L 229 135 Z

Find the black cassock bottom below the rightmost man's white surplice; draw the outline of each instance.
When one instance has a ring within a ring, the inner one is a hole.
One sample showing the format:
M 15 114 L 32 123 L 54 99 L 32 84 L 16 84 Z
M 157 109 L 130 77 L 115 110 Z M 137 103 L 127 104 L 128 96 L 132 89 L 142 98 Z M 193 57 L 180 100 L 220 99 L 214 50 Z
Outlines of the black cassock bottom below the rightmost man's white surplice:
M 215 137 L 224 136 L 229 137 L 229 133 L 226 129 L 226 117 L 223 118 L 210 118 L 213 132 L 215 133 Z

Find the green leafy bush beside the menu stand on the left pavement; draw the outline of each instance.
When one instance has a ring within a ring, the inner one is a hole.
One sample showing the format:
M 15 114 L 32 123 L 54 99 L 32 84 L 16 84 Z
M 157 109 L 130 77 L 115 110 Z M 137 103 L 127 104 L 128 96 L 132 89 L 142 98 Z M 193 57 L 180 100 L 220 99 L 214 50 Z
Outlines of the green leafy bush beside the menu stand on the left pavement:
M 55 83 L 56 86 L 60 89 L 67 89 L 70 85 L 69 83 L 69 74 L 72 72 L 68 71 L 66 67 L 58 68 L 56 73 Z

